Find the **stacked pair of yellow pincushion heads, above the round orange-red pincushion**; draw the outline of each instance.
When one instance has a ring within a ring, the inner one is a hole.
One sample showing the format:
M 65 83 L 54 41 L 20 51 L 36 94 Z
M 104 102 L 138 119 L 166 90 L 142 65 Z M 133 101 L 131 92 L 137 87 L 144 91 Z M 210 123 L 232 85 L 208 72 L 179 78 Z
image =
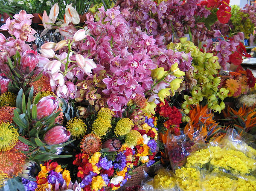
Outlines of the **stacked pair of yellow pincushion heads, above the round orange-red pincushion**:
M 109 128 L 111 128 L 111 120 L 114 115 L 115 113 L 112 110 L 102 107 L 93 123 L 92 133 L 99 137 L 106 135 Z

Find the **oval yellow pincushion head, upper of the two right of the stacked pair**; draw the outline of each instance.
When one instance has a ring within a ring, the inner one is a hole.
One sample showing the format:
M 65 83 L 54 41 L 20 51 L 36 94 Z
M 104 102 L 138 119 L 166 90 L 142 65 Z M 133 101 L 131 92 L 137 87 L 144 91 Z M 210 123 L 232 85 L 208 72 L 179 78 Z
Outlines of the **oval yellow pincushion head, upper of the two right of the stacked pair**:
M 134 126 L 134 123 L 131 121 L 131 119 L 125 117 L 121 118 L 116 123 L 116 128 L 114 130 L 116 136 L 124 136 L 131 130 L 131 127 Z

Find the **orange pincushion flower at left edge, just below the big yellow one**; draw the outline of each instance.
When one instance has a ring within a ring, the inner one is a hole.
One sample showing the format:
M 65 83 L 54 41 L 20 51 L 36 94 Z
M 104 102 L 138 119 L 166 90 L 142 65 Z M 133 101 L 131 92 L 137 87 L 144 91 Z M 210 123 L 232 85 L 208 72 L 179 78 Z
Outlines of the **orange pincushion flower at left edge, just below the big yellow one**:
M 12 178 L 21 173 L 26 155 L 16 149 L 0 152 L 0 169 Z

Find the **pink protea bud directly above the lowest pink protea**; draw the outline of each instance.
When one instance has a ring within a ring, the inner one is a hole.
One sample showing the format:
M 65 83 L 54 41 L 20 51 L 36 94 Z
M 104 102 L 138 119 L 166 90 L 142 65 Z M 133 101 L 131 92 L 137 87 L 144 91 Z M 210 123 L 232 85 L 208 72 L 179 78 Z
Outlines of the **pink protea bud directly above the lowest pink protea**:
M 43 119 L 53 113 L 58 107 L 58 101 L 53 96 L 46 96 L 39 100 L 37 106 L 37 118 Z

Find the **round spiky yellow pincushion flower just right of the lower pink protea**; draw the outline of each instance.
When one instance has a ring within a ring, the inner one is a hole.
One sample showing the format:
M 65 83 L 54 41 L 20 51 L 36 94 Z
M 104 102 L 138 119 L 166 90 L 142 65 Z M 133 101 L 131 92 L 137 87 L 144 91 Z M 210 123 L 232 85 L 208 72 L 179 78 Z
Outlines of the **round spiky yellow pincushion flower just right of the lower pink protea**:
M 70 131 L 71 135 L 74 138 L 78 138 L 80 139 L 81 137 L 83 137 L 86 133 L 86 124 L 81 120 L 78 119 L 77 117 L 70 119 L 67 122 L 67 130 Z

